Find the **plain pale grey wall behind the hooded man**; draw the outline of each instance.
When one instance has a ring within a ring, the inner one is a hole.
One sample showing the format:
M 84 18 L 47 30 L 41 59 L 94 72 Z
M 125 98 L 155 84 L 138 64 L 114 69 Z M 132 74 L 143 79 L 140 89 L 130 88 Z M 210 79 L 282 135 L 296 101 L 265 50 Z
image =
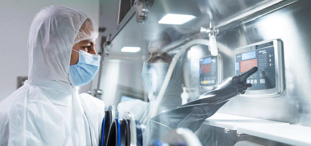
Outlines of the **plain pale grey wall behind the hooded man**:
M 28 74 L 28 30 L 44 6 L 62 5 L 80 10 L 99 22 L 99 0 L 0 1 L 0 101 L 16 90 L 17 76 Z M 81 92 L 90 89 L 81 87 Z

